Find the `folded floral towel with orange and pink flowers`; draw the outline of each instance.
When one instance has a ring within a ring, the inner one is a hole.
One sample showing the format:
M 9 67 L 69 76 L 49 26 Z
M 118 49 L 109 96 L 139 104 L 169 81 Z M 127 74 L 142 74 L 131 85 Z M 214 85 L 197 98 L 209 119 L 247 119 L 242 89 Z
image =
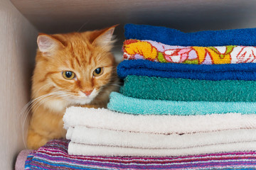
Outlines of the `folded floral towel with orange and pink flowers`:
M 196 47 L 165 45 L 151 40 L 125 40 L 124 60 L 150 60 L 184 64 L 238 64 L 256 62 L 256 47 Z

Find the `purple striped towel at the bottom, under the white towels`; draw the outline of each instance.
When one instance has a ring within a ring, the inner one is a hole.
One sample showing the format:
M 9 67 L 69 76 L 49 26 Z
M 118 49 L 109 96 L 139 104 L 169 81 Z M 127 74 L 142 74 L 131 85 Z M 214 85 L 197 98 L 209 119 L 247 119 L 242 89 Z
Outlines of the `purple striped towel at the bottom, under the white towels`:
M 256 152 L 185 157 L 89 157 L 68 154 L 69 140 L 52 140 L 32 151 L 26 169 L 253 169 Z

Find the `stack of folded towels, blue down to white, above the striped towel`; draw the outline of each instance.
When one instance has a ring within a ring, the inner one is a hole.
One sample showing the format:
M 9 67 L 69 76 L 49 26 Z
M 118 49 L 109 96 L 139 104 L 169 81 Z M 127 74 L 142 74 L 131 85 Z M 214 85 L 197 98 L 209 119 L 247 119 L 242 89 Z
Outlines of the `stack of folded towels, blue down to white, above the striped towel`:
M 67 109 L 68 153 L 166 157 L 254 150 L 253 31 L 186 34 L 127 24 L 117 67 L 124 86 L 112 92 L 107 109 Z

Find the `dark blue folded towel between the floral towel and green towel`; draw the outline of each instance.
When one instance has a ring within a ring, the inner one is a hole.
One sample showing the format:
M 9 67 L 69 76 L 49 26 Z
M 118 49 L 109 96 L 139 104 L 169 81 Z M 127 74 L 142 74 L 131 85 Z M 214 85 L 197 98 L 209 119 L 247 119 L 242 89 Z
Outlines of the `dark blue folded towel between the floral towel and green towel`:
M 256 63 L 198 65 L 124 60 L 117 66 L 117 74 L 121 79 L 136 75 L 214 81 L 256 80 Z

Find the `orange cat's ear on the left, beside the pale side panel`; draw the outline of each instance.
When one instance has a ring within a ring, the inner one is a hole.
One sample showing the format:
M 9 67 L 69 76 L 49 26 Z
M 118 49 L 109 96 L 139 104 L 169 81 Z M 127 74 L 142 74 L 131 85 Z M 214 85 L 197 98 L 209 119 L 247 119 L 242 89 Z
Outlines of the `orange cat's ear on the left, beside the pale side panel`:
M 64 45 L 53 36 L 47 34 L 39 34 L 37 38 L 38 49 L 41 52 L 51 52 L 52 50 L 58 50 Z

